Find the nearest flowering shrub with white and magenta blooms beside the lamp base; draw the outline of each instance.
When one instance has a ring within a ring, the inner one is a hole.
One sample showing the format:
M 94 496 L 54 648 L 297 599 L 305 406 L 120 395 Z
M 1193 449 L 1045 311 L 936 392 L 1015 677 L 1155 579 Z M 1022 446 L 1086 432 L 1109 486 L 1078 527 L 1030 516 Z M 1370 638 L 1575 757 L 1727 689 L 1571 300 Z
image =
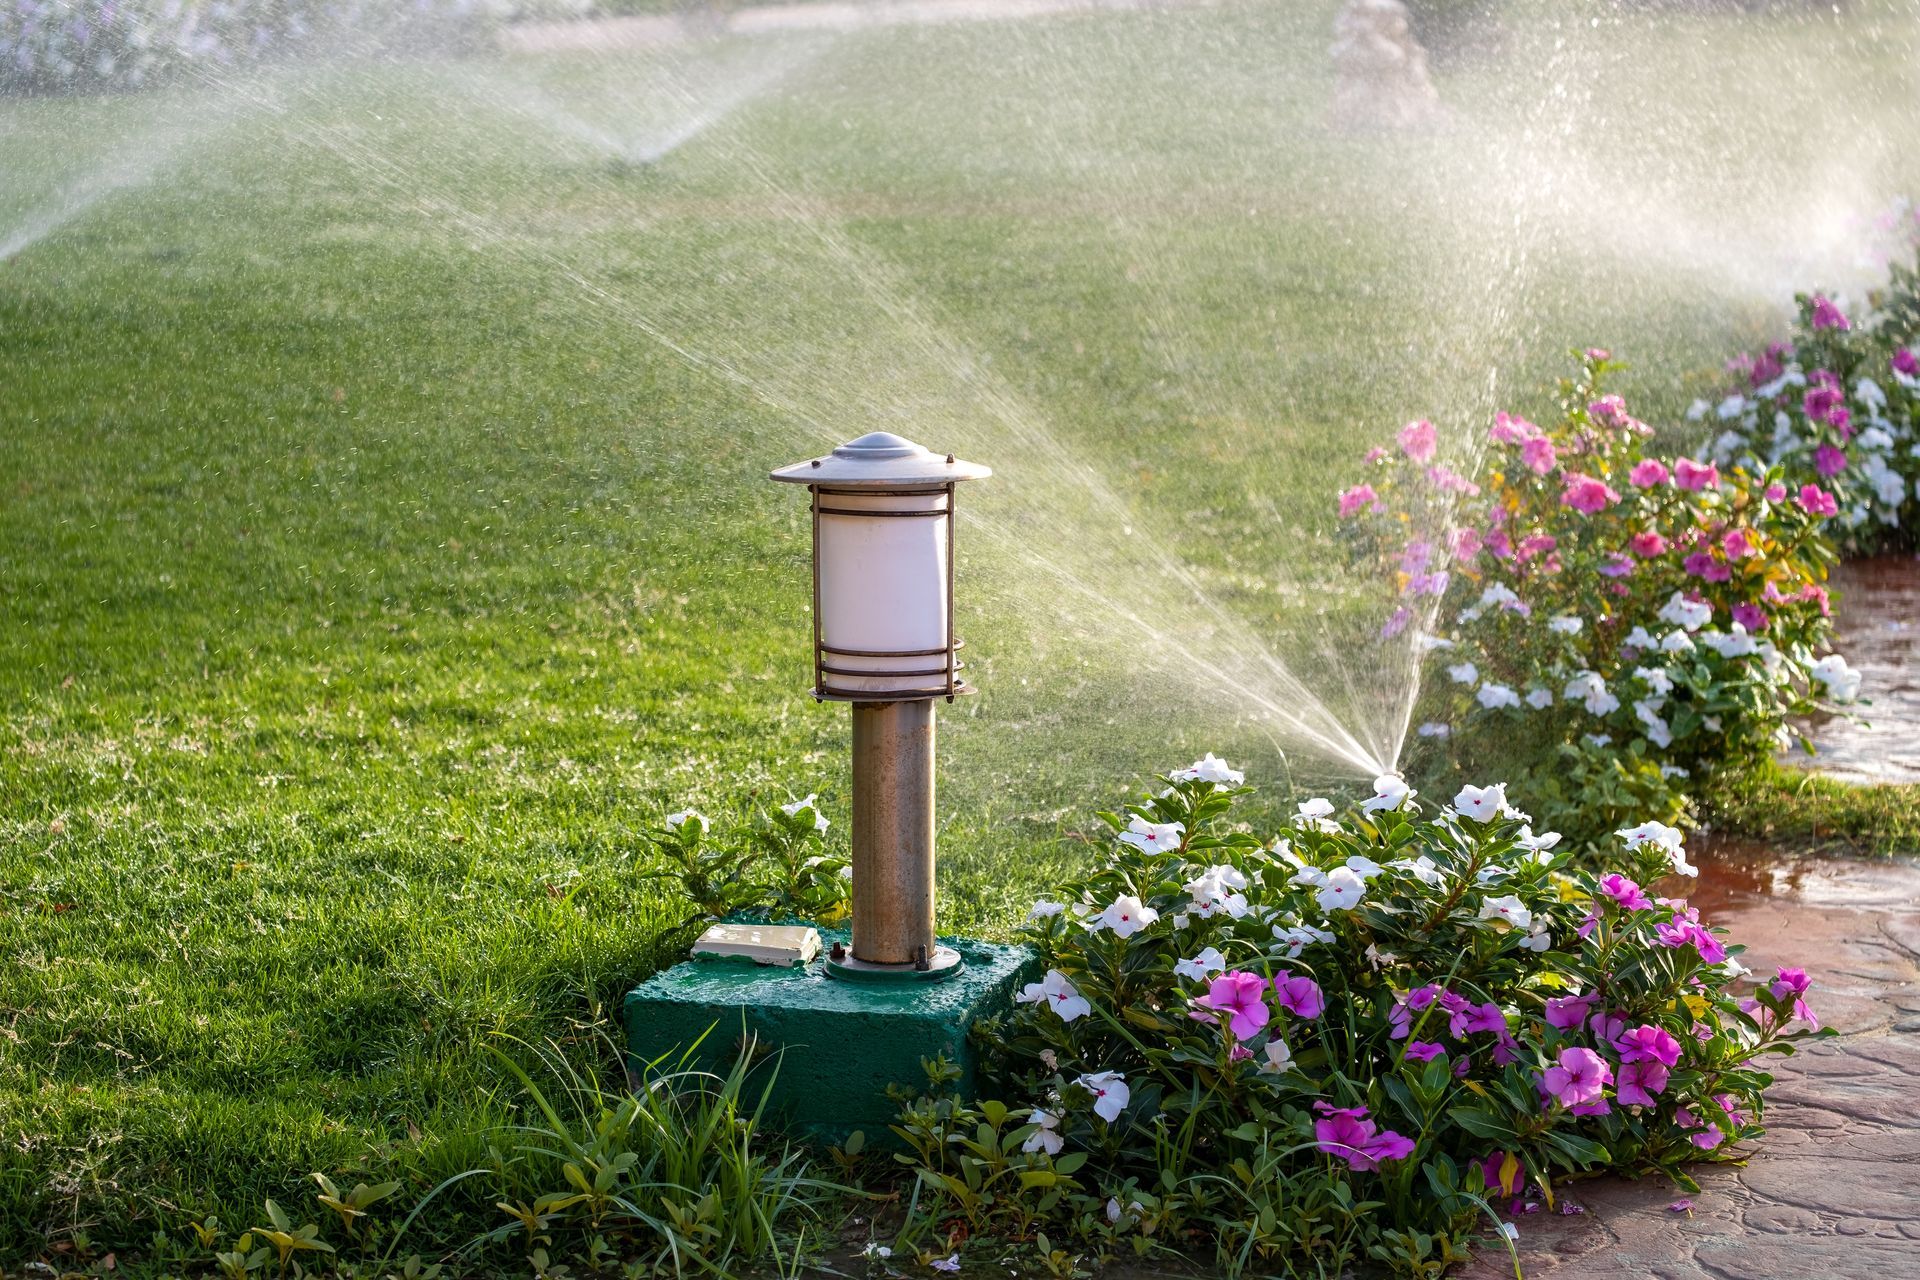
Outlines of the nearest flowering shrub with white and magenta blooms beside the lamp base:
M 1423 812 L 1380 777 L 1261 837 L 1240 781 L 1167 775 L 1035 904 L 1044 977 L 977 1029 L 1000 1102 L 897 1128 L 922 1232 L 1438 1276 L 1576 1174 L 1692 1186 L 1761 1134 L 1766 1057 L 1818 1034 L 1803 973 L 1751 983 L 1686 904 L 1672 827 L 1574 864 L 1503 787 Z

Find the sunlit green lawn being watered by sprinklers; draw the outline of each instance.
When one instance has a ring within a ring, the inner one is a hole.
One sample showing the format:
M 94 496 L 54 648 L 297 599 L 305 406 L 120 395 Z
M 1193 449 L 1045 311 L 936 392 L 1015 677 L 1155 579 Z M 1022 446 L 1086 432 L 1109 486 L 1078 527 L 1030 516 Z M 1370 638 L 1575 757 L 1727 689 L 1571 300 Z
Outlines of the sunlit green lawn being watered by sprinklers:
M 1404 140 L 1325 129 L 1331 10 L 0 104 L 0 234 L 138 175 L 0 265 L 0 1261 L 315 1169 L 417 1197 L 513 1102 L 495 1036 L 668 960 L 637 831 L 841 823 L 770 466 L 897 428 L 996 468 L 941 912 L 1004 933 L 1144 771 L 1357 779 L 1275 735 L 1260 647 L 1390 737 L 1327 537 L 1367 443 L 1588 342 L 1676 420 L 1920 178 L 1872 6 L 1526 25 Z M 760 77 L 657 165 L 589 140 Z

